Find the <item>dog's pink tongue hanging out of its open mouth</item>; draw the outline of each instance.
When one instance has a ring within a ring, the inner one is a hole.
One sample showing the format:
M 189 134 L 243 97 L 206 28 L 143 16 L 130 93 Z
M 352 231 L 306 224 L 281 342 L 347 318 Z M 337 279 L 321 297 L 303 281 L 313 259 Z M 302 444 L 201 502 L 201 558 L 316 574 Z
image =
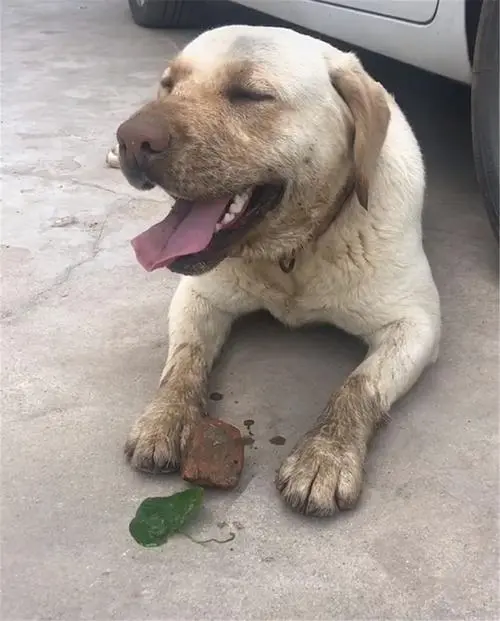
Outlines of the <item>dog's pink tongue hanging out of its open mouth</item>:
M 132 240 L 139 263 L 148 272 L 178 257 L 204 250 L 231 197 L 207 202 L 176 201 L 171 213 Z

